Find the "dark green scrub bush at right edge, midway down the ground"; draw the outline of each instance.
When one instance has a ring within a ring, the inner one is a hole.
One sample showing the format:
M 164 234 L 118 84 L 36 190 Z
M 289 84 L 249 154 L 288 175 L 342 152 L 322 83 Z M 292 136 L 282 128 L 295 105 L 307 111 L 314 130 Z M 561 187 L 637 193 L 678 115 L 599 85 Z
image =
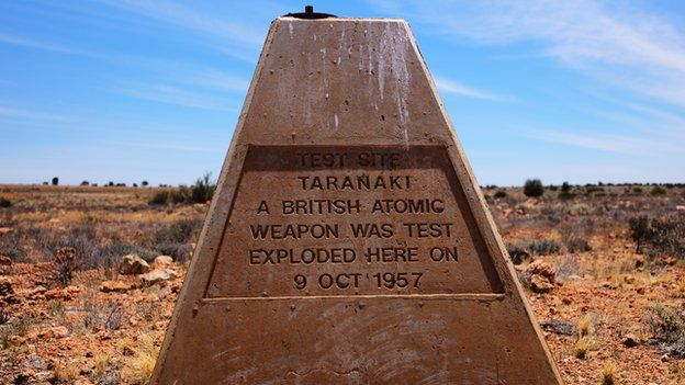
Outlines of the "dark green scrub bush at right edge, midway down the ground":
M 648 248 L 650 257 L 669 254 L 685 257 L 685 214 L 676 213 L 650 219 L 648 216 L 632 217 L 628 222 L 630 237 L 636 242 L 636 252 Z

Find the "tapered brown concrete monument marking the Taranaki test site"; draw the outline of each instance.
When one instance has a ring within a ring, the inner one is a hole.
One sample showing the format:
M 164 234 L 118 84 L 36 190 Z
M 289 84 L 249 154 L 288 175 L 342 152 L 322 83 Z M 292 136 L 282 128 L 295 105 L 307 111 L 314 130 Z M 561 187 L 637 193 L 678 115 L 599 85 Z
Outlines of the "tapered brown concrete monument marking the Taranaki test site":
M 278 19 L 153 383 L 559 384 L 504 250 L 408 25 Z

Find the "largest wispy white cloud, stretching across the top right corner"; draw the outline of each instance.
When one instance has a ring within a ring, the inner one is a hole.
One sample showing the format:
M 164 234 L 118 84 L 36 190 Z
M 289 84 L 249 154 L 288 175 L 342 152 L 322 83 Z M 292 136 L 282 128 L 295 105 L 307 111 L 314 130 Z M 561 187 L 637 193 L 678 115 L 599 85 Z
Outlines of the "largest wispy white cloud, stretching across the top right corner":
M 536 43 L 538 54 L 636 95 L 685 106 L 685 30 L 627 2 L 422 1 L 386 4 L 446 36 Z

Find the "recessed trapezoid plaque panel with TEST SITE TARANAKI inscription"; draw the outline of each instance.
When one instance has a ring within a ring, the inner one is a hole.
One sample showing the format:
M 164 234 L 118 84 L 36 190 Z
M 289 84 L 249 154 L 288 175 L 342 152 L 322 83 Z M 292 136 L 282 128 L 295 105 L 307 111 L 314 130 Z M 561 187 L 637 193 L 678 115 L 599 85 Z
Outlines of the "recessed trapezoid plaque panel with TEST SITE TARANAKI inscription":
M 248 150 L 206 297 L 502 293 L 443 147 Z

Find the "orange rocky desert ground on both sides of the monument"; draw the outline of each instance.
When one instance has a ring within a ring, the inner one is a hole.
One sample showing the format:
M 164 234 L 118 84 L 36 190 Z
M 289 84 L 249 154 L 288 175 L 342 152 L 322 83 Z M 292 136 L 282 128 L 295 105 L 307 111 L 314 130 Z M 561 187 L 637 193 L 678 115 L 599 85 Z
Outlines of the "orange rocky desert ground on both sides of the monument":
M 566 384 L 685 384 L 683 258 L 628 225 L 685 189 L 595 189 L 485 193 Z M 0 188 L 0 383 L 146 383 L 207 207 L 154 190 Z

